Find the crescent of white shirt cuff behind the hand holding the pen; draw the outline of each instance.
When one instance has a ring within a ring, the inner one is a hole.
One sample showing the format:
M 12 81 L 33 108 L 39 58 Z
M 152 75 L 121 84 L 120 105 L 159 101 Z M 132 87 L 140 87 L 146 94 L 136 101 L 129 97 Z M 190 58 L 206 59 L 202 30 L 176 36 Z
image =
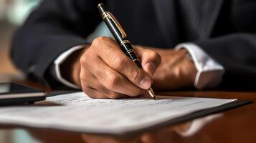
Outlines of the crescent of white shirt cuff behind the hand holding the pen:
M 64 79 L 62 77 L 62 73 L 60 71 L 60 64 L 62 64 L 65 59 L 67 59 L 68 56 L 70 56 L 70 54 L 72 54 L 74 51 L 77 51 L 78 49 L 82 49 L 84 48 L 85 46 L 83 45 L 78 45 L 78 46 L 74 46 L 70 49 L 68 49 L 67 51 L 64 51 L 62 54 L 60 54 L 60 56 L 57 56 L 57 59 L 54 60 L 54 74 L 57 78 L 57 80 L 66 85 L 67 87 L 71 87 L 71 88 L 74 88 L 74 89 L 80 89 L 80 87 L 78 87 L 77 85 L 75 84 L 72 84 L 71 82 L 67 81 L 67 79 Z

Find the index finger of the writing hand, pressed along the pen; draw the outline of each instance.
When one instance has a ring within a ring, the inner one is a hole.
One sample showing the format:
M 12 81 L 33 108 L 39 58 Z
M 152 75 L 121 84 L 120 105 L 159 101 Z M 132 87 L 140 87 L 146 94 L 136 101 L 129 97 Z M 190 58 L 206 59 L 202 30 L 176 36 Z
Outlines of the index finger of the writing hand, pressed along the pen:
M 99 56 L 114 71 L 122 74 L 129 81 L 142 89 L 151 87 L 151 78 L 120 50 L 118 44 L 113 39 L 95 39 L 104 41 L 97 42 L 96 47 L 100 48 Z M 117 77 L 118 78 L 118 77 Z M 119 80 L 119 79 L 118 79 Z

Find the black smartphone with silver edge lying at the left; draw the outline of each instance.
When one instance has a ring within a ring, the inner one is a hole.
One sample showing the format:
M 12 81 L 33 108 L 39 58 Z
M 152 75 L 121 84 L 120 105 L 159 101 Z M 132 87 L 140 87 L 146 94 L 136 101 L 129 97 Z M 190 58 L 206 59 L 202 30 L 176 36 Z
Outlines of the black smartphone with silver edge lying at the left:
M 21 84 L 0 83 L 0 106 L 34 103 L 46 98 L 40 89 Z

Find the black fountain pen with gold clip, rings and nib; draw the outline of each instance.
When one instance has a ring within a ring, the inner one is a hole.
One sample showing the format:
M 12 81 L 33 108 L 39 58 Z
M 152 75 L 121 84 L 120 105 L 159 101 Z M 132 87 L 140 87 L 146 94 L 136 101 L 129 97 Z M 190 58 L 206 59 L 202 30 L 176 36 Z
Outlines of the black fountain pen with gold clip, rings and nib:
M 104 4 L 98 4 L 98 10 L 100 11 L 100 15 L 103 18 L 103 21 L 108 26 L 108 29 L 110 29 L 111 33 L 115 37 L 115 41 L 118 42 L 120 48 L 122 51 L 130 57 L 139 68 L 142 69 L 141 61 L 137 58 L 135 51 L 133 50 L 133 46 L 131 45 L 131 42 L 127 39 L 127 35 L 125 34 L 125 31 L 123 30 L 122 26 L 120 26 L 117 19 L 115 19 L 115 16 L 108 11 L 106 6 Z M 148 94 L 156 100 L 156 96 L 153 93 L 153 89 L 150 87 L 147 89 Z

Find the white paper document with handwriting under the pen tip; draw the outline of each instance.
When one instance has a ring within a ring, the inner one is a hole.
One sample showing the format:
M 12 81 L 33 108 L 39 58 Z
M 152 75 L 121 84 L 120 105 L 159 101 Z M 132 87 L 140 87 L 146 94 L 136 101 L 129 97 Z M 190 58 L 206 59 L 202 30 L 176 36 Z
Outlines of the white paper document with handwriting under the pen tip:
M 83 92 L 47 97 L 32 105 L 0 107 L 0 123 L 65 129 L 75 132 L 122 134 L 217 107 L 236 99 L 163 97 L 91 99 Z

